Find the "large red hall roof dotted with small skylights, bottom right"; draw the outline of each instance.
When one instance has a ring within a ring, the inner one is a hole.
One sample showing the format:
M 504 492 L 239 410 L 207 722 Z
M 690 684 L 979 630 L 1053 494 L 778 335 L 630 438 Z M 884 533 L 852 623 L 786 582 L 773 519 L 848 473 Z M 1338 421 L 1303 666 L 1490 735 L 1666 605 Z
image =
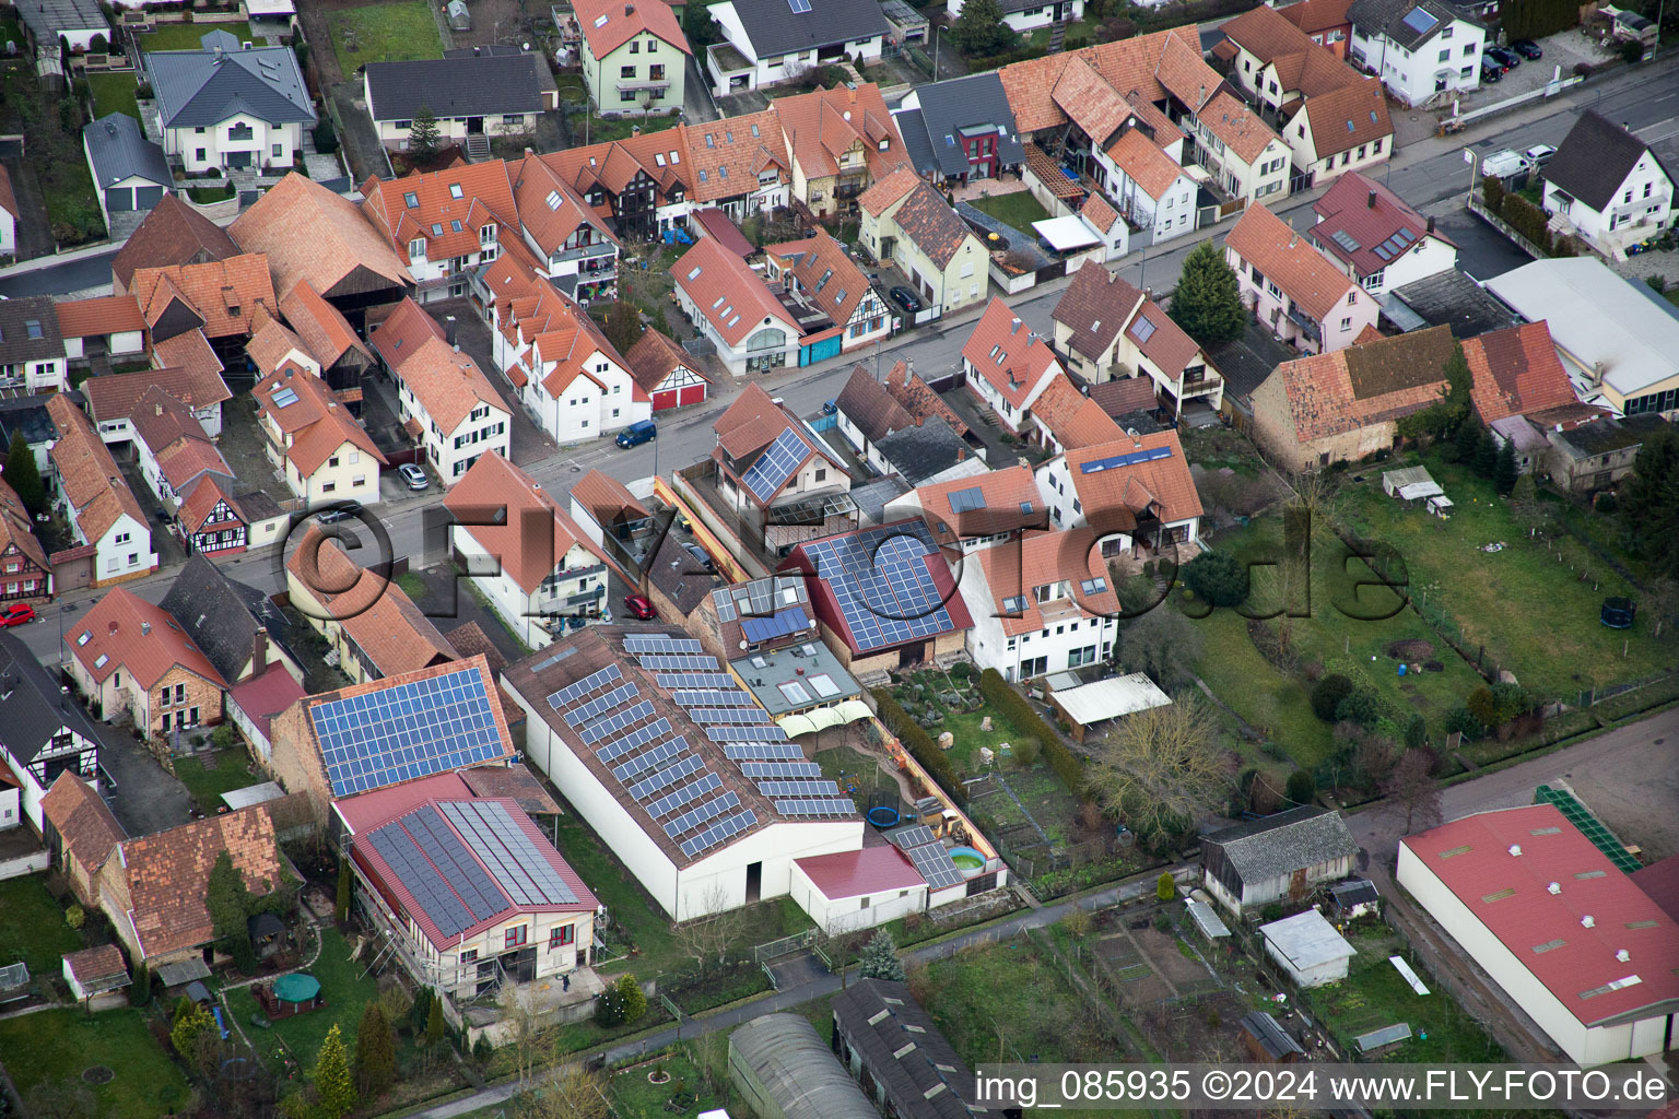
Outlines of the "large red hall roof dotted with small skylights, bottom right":
M 1679 924 L 1556 805 L 1478 812 L 1400 844 L 1582 1025 L 1679 1000 Z

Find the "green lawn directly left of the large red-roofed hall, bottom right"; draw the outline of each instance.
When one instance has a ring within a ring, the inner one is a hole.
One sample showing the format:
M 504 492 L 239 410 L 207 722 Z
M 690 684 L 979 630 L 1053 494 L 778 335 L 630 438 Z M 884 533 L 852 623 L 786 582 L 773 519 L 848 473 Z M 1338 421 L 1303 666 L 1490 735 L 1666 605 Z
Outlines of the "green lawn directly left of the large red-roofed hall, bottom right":
M 1353 1038 L 1360 1033 L 1404 1022 L 1410 1025 L 1412 1037 L 1380 1060 L 1405 1064 L 1504 1060 L 1504 1050 L 1498 1042 L 1464 1013 L 1415 960 L 1409 963 L 1431 993 L 1417 995 L 1410 990 L 1410 983 L 1389 961 L 1389 956 L 1399 951 L 1399 943 L 1392 936 L 1365 933 L 1350 939 L 1358 955 L 1352 960 L 1347 980 L 1306 993 L 1315 1017 L 1326 1022 L 1348 1050 L 1357 1052 Z M 1427 1033 L 1427 1040 L 1420 1038 L 1420 1033 Z

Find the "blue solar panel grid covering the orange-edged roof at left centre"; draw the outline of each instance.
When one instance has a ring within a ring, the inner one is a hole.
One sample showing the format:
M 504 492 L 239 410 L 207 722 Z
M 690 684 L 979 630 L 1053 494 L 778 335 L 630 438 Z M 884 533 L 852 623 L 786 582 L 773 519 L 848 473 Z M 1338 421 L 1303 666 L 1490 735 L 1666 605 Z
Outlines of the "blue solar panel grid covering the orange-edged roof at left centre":
M 484 674 L 463 668 L 309 708 L 334 797 L 505 753 Z

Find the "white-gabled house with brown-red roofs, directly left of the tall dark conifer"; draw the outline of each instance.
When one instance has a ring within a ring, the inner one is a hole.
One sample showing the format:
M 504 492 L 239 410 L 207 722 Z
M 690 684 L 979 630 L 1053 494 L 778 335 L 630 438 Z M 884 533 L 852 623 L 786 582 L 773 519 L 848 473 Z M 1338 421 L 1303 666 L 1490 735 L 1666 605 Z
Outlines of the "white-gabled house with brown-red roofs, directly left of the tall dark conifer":
M 1184 329 L 1143 292 L 1086 260 L 1053 312 L 1054 349 L 1088 384 L 1145 376 L 1162 408 L 1224 403 L 1224 377 Z

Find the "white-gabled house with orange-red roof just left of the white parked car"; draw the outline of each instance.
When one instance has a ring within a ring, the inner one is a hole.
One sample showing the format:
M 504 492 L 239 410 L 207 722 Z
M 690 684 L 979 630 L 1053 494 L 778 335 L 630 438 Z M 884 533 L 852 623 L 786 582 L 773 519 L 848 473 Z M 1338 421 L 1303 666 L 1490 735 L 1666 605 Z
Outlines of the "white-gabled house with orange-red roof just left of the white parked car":
M 321 377 L 285 362 L 252 396 L 269 461 L 307 508 L 379 500 L 379 468 L 388 461 Z

